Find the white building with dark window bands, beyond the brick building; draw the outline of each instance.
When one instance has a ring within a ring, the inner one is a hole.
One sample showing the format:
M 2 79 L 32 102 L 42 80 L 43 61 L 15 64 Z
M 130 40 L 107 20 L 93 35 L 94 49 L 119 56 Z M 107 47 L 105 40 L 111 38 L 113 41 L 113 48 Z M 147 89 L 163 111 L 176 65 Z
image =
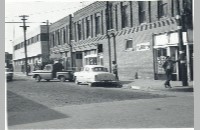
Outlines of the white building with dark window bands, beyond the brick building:
M 27 32 L 27 64 L 30 65 L 30 71 L 34 70 L 35 64 L 42 67 L 49 62 L 48 41 L 47 25 L 40 25 L 34 30 Z M 16 72 L 25 72 L 24 37 L 15 40 L 13 62 Z

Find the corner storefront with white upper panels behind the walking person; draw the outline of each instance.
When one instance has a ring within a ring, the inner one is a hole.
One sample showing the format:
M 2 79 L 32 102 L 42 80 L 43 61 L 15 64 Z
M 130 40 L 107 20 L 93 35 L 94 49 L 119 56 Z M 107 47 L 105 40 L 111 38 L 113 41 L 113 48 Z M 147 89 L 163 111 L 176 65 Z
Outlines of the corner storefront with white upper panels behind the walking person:
M 153 38 L 154 78 L 161 80 L 165 79 L 165 71 L 162 65 L 166 56 L 170 56 L 174 61 L 179 59 L 178 32 L 155 34 Z M 183 42 L 186 43 L 186 41 L 186 32 L 183 32 Z M 180 80 L 180 64 L 178 62 L 174 65 L 172 80 Z

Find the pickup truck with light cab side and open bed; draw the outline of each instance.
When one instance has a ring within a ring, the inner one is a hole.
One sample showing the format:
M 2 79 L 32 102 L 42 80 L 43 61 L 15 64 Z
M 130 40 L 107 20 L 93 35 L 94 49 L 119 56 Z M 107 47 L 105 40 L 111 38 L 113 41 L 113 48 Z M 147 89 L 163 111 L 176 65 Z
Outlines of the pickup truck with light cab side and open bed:
M 45 79 L 46 81 L 59 79 L 61 82 L 65 82 L 65 80 L 74 81 L 74 75 L 72 70 L 59 71 L 55 72 L 54 74 L 53 64 L 47 64 L 43 70 L 33 71 L 32 76 L 37 82 L 40 82 L 41 79 Z

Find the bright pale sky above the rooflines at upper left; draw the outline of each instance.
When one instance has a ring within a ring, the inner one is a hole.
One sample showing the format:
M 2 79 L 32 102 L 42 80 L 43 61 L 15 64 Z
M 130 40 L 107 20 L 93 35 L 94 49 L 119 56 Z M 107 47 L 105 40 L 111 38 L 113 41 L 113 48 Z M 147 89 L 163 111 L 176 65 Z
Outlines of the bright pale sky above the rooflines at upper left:
M 33 30 L 39 25 L 45 25 L 49 20 L 50 23 L 74 13 L 75 11 L 91 4 L 90 1 L 81 0 L 5 0 L 5 51 L 13 53 L 14 39 L 23 36 L 21 15 L 28 15 L 27 32 Z

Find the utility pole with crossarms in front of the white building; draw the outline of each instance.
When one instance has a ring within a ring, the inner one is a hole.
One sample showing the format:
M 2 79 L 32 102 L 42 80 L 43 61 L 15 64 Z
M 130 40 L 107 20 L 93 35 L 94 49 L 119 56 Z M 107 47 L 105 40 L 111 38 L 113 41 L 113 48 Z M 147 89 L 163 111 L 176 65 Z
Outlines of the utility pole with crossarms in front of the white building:
M 24 69 L 26 70 L 26 75 L 28 76 L 28 68 L 27 68 L 27 44 L 26 44 L 26 30 L 27 30 L 27 27 L 29 26 L 26 26 L 26 17 L 28 17 L 27 15 L 21 15 L 19 17 L 22 17 L 22 21 L 23 21 L 23 26 L 20 26 L 20 27 L 23 27 L 24 29 L 24 54 L 25 54 L 25 58 L 24 58 L 24 61 L 25 61 L 25 65 L 24 65 Z

